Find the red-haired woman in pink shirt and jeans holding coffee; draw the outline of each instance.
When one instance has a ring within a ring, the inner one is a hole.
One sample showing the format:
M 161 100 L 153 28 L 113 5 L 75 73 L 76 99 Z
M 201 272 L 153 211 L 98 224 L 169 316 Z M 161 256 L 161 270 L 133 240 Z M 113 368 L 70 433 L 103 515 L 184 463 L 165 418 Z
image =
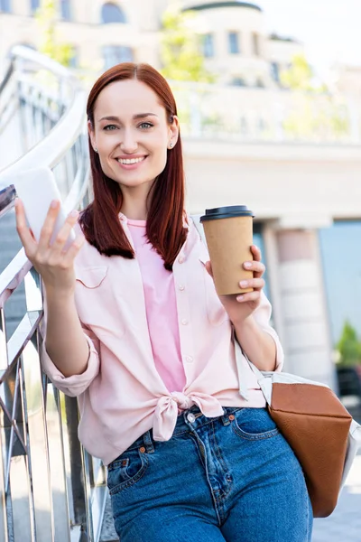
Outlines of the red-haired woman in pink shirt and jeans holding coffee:
M 39 244 L 21 203 L 16 212 L 46 294 L 43 368 L 79 398 L 79 439 L 107 465 L 116 532 L 122 542 L 310 540 L 300 464 L 245 356 L 247 381 L 237 377 L 234 333 L 259 369 L 282 367 L 259 249 L 240 262 L 254 291 L 218 298 L 184 211 L 176 105 L 153 68 L 119 64 L 97 80 L 88 135 L 94 201 L 80 218 L 71 213 L 50 246 L 58 203 Z

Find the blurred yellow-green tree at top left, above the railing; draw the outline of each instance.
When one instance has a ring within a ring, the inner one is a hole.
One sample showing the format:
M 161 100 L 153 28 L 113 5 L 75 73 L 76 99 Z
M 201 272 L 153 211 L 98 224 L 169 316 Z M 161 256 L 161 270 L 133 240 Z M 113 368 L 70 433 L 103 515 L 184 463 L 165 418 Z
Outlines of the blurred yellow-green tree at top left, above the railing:
M 40 29 L 39 51 L 63 66 L 69 66 L 74 50 L 69 43 L 57 40 L 57 9 L 54 0 L 42 0 L 35 18 Z

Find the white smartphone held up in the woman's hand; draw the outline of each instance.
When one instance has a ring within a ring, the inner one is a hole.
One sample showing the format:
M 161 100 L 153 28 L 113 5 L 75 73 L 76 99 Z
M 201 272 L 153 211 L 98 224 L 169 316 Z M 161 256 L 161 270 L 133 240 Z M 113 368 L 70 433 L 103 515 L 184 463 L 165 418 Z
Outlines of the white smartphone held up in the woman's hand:
M 61 203 L 61 195 L 54 173 L 51 172 L 49 167 L 38 167 L 14 174 L 14 177 L 9 179 L 9 182 L 14 184 L 17 195 L 23 201 L 26 220 L 29 222 L 37 241 L 39 241 L 51 201 L 60 201 L 59 214 L 51 236 L 52 243 L 67 218 L 67 213 Z M 74 239 L 75 232 L 71 229 L 65 248 L 68 248 Z

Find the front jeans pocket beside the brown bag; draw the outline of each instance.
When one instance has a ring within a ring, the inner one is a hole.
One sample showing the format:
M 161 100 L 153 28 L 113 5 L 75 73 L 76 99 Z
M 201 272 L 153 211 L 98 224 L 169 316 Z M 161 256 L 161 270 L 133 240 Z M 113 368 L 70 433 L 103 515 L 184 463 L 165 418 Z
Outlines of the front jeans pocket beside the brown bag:
M 279 435 L 266 408 L 242 408 L 235 414 L 232 427 L 236 435 L 246 440 L 262 440 Z

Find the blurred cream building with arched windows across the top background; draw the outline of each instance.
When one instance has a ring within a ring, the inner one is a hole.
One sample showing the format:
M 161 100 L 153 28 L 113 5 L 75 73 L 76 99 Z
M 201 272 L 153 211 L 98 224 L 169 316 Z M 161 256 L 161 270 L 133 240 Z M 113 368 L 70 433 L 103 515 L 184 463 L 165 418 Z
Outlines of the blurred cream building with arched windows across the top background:
M 103 70 L 121 61 L 162 66 L 159 38 L 162 14 L 170 0 L 54 0 L 56 39 L 73 48 L 72 65 Z M 41 0 L 0 0 L 0 57 L 15 43 L 37 48 L 42 31 L 35 14 Z M 268 35 L 264 12 L 246 2 L 188 2 L 180 7 L 194 14 L 206 66 L 219 83 L 274 87 L 280 72 L 302 51 L 300 43 Z

